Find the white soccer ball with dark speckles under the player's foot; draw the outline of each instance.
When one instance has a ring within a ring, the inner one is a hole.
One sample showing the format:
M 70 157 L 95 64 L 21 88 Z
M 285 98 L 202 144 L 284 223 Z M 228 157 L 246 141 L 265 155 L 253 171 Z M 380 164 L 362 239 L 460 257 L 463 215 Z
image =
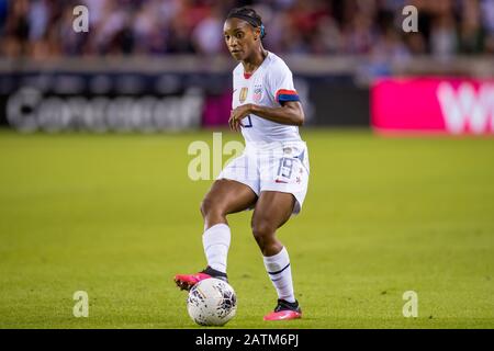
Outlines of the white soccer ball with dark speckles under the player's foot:
M 235 316 L 237 297 L 228 283 L 205 279 L 190 290 L 187 310 L 198 325 L 223 326 Z

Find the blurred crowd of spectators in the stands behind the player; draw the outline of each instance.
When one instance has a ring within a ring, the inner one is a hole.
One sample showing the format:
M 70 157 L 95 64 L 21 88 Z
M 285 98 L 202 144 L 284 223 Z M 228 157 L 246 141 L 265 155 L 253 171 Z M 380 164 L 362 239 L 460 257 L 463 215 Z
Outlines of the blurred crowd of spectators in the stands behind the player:
M 76 33 L 76 5 L 89 32 Z M 418 9 L 418 33 L 402 10 Z M 494 0 L 0 0 L 0 56 L 227 54 L 233 7 L 262 16 L 276 53 L 385 57 L 494 54 Z

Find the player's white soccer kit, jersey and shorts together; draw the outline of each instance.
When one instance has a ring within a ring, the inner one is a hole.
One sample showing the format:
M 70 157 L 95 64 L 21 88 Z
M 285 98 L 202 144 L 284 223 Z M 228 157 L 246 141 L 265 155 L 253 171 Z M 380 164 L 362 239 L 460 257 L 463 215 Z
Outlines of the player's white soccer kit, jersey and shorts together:
M 234 109 L 246 103 L 277 107 L 287 101 L 299 101 L 299 95 L 292 72 L 277 55 L 269 53 L 250 77 L 245 76 L 242 64 L 235 68 Z M 307 193 L 310 165 L 299 127 L 254 114 L 242 122 L 246 148 L 223 169 L 218 179 L 246 184 L 258 196 L 263 191 L 291 193 L 296 200 L 293 214 L 300 213 Z

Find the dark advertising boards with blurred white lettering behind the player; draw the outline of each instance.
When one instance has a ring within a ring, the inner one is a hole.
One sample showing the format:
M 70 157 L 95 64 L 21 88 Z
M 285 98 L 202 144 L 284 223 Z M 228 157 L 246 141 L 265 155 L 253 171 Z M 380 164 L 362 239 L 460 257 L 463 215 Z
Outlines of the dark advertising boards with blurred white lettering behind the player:
M 350 76 L 295 75 L 307 125 L 369 126 Z M 226 125 L 229 72 L 21 71 L 0 75 L 0 123 L 34 131 L 167 131 Z

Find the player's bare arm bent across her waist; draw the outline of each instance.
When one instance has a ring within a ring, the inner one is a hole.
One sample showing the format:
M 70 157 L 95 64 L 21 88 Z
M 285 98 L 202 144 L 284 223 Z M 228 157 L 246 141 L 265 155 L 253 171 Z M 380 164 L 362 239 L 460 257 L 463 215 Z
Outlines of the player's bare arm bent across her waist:
M 280 107 L 268 107 L 247 103 L 232 111 L 228 124 L 233 131 L 238 131 L 242 120 L 249 114 L 255 114 L 265 120 L 285 125 L 301 126 L 304 124 L 305 115 L 299 101 L 287 101 Z

